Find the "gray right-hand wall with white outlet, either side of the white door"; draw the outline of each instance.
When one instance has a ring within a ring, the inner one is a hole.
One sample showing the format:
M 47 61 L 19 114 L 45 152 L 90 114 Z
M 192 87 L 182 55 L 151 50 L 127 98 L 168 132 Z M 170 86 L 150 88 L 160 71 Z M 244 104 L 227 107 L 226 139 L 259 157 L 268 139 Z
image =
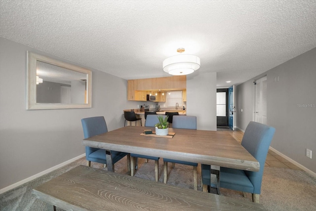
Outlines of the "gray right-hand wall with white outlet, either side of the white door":
M 271 147 L 316 172 L 316 48 L 265 74 L 267 124 L 276 128 Z M 237 86 L 237 127 L 243 130 L 252 121 L 252 96 L 252 80 Z

